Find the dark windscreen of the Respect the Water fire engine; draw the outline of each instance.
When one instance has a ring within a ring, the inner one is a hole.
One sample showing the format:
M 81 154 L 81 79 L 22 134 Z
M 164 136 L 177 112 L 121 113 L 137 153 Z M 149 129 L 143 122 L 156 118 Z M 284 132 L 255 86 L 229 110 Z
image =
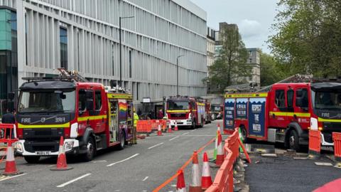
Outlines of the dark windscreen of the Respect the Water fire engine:
M 312 97 L 317 110 L 341 110 L 341 90 L 312 91 Z

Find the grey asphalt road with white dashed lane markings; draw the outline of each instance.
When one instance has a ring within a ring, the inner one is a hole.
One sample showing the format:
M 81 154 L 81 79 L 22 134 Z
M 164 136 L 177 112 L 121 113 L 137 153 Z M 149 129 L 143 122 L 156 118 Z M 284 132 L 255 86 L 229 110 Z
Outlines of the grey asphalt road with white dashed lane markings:
M 87 163 L 68 158 L 68 166 L 73 167 L 70 171 L 50 171 L 55 158 L 26 164 L 19 157 L 16 164 L 23 174 L 0 177 L 0 191 L 152 191 L 175 174 L 194 150 L 214 138 L 216 130 L 217 121 L 200 129 L 180 129 L 163 137 L 147 137 L 121 151 L 102 151 Z M 213 147 L 211 144 L 205 150 Z M 4 163 L 0 164 L 1 168 Z M 185 170 L 186 182 L 190 181 L 189 169 Z M 171 182 L 162 191 L 175 191 L 175 183 Z

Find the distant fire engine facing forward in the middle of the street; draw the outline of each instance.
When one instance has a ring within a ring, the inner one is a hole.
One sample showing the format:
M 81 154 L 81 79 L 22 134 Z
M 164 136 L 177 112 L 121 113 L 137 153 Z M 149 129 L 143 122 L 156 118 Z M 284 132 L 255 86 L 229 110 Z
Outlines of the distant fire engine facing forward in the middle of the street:
M 205 124 L 205 102 L 201 98 L 175 96 L 167 100 L 167 119 L 171 126 L 204 127 Z

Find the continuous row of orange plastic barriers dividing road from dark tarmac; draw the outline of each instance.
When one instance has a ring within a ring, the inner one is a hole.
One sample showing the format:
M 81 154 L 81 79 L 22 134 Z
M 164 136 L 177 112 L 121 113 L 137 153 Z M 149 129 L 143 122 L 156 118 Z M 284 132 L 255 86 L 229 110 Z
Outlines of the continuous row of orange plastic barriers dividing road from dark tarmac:
M 207 188 L 206 192 L 233 191 L 233 164 L 239 156 L 239 145 L 242 144 L 239 141 L 238 128 L 236 128 L 234 129 L 233 134 L 225 140 L 224 162 L 215 175 L 215 181 L 210 188 Z M 247 151 L 244 150 L 244 153 L 247 155 Z M 249 159 L 248 156 L 249 155 L 247 155 L 247 159 L 251 162 L 251 159 Z

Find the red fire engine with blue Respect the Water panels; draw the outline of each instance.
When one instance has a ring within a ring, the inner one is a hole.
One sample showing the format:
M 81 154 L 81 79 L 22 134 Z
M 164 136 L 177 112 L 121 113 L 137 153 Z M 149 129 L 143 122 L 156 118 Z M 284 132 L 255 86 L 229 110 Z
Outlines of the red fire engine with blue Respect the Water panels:
M 341 80 L 276 83 L 269 92 L 226 94 L 224 130 L 242 129 L 243 139 L 282 142 L 299 150 L 308 129 L 321 131 L 321 145 L 333 146 L 341 132 Z

